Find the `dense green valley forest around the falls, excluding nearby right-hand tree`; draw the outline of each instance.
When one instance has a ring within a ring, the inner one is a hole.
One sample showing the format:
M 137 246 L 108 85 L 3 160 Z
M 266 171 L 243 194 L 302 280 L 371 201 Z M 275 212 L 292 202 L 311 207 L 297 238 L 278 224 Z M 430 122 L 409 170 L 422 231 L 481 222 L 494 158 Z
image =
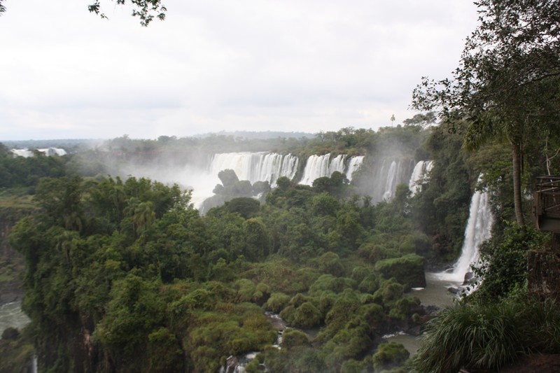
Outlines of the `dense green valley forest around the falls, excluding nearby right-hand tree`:
M 461 134 L 445 128 L 342 129 L 299 139 L 301 154 L 366 154 L 363 170 L 352 183 L 337 173 L 312 186 L 281 178 L 265 202 L 239 197 L 205 216 L 177 185 L 104 175 L 104 155 L 83 164 L 80 154 L 6 153 L 3 200 L 29 195 L 33 206 L 10 233 L 25 258 L 22 307 L 31 318 L 15 341 L 31 342 L 46 372 L 217 372 L 228 356 L 251 351 L 261 352 L 248 372 L 261 363 L 272 372 L 402 365 L 409 353 L 380 338 L 426 321 L 407 292 L 425 286 L 425 267 L 457 257 L 475 188 L 492 191 L 498 217 L 486 255 L 512 236 L 500 223 L 514 220 L 507 148 L 496 142 L 468 153 Z M 186 139 L 169 149 L 174 141 Z M 145 143 L 126 139 L 120 151 L 137 155 Z M 393 199 L 373 204 L 360 195 L 360 178 L 395 144 L 416 160 L 434 160 L 430 181 L 414 197 L 400 185 Z M 545 159 L 538 148 L 527 152 L 527 190 Z M 534 242 L 545 239 L 534 233 Z M 527 248 L 516 248 L 518 257 Z M 486 267 L 486 276 L 510 261 Z M 481 286 L 486 299 L 523 283 L 524 263 L 517 267 L 519 276 Z M 265 311 L 290 327 L 281 349 L 272 346 L 277 332 Z

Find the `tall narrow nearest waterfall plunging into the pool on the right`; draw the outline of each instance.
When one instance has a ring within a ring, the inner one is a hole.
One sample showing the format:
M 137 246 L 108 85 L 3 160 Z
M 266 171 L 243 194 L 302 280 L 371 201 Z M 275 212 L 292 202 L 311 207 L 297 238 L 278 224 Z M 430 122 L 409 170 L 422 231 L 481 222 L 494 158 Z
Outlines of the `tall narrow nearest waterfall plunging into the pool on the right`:
M 470 272 L 470 266 L 478 262 L 480 244 L 491 236 L 492 223 L 493 217 L 488 192 L 476 191 L 470 199 L 468 223 L 465 228 L 465 241 L 463 241 L 463 248 L 461 248 L 461 257 L 458 258 L 451 272 L 438 274 L 442 280 L 463 282 L 465 274 Z

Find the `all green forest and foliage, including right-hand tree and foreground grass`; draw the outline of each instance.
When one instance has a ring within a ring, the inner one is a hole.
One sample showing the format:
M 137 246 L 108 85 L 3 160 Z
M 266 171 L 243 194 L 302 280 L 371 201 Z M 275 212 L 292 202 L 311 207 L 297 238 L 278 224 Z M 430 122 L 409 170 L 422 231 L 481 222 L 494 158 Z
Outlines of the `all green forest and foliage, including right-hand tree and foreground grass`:
M 557 233 L 529 223 L 535 176 L 560 174 L 558 2 L 477 6 L 452 78 L 423 78 L 412 101 L 423 114 L 397 127 L 299 139 L 122 136 L 25 159 L 0 146 L 0 217 L 21 255 L 0 280 L 25 271 L 31 319 L 3 332 L 0 372 L 22 371 L 34 354 L 41 372 L 218 372 L 254 351 L 246 372 L 397 373 L 498 371 L 560 353 L 560 291 L 534 291 L 543 284 L 530 284 L 539 278 L 528 260 L 560 273 Z M 111 171 L 237 151 L 365 159 L 351 182 L 334 172 L 272 188 L 223 171 L 214 191 L 232 198 L 204 215 L 179 185 Z M 374 202 L 367 185 L 382 157 L 433 169 L 414 195 L 398 185 Z M 430 313 L 410 290 L 458 257 L 475 190 L 489 193 L 495 222 L 468 283 L 476 290 Z M 279 345 L 276 316 L 288 325 Z M 382 339 L 420 328 L 412 358 Z

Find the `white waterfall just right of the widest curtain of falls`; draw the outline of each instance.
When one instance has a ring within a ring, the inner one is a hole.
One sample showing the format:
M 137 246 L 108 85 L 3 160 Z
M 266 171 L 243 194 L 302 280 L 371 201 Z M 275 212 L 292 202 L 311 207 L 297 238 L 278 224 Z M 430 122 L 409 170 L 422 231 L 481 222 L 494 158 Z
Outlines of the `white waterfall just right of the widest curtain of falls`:
M 362 162 L 363 156 L 350 157 L 349 160 L 346 160 L 346 155 L 341 154 L 331 160 L 330 153 L 325 155 L 311 155 L 305 164 L 300 184 L 312 185 L 316 178 L 330 177 L 335 171 L 345 174 L 346 178 L 351 180 L 353 171 L 356 171 Z M 348 167 L 346 167 L 346 163 Z

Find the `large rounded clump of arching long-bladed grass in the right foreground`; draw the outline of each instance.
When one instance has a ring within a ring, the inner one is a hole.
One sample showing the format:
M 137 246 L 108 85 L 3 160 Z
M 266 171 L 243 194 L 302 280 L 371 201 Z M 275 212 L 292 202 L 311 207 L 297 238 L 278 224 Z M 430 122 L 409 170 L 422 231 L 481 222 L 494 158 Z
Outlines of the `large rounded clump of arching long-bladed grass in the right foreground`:
M 416 372 L 498 370 L 528 352 L 528 323 L 524 304 L 455 304 L 427 325 L 423 343 L 414 357 Z

